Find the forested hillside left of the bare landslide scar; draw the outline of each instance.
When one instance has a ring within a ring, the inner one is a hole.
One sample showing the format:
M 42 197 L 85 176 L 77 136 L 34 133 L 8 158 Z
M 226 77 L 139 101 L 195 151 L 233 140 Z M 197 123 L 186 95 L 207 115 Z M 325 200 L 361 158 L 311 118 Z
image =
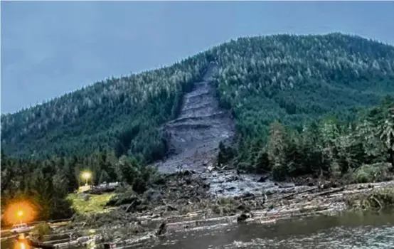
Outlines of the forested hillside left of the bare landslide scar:
M 196 55 L 2 115 L 1 147 L 23 157 L 85 156 L 115 149 L 117 157 L 159 159 L 166 144 L 156 128 L 178 115 L 183 92 L 201 78 L 205 65 L 203 55 Z

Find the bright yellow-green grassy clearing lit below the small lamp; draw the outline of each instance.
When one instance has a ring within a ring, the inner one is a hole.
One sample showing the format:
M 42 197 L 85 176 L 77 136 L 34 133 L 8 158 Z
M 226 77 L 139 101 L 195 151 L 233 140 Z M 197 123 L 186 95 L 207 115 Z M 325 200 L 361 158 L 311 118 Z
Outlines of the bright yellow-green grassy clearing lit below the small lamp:
M 110 210 L 105 208 L 105 204 L 110 201 L 114 193 L 105 193 L 100 195 L 87 194 L 89 196 L 88 201 L 85 201 L 84 195 L 82 194 L 69 194 L 68 199 L 73 202 L 73 208 L 78 214 L 89 214 L 89 213 L 104 213 Z

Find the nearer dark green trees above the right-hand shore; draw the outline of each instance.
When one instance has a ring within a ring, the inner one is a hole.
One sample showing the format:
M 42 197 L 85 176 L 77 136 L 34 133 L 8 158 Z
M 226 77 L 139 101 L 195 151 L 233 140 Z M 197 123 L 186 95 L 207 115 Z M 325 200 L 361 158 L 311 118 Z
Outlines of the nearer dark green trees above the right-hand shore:
M 382 136 L 393 120 L 388 110 L 394 99 L 386 98 L 352 123 L 326 117 L 304 127 L 301 134 L 279 122 L 270 125 L 266 146 L 255 159 L 253 171 L 272 171 L 275 179 L 302 174 L 334 178 L 351 174 L 351 182 L 384 181 L 394 169 L 391 147 Z M 373 122 L 368 122 L 373 120 Z M 390 166 L 387 166 L 390 165 Z

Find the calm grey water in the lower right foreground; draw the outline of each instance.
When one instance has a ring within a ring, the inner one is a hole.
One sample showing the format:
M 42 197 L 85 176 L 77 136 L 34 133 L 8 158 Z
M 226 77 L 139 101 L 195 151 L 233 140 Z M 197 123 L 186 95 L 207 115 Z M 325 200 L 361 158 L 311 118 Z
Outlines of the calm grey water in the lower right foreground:
M 147 245 L 143 245 L 147 248 Z M 394 248 L 394 211 L 380 214 L 348 213 L 275 225 L 245 224 L 177 235 L 151 245 L 156 249 L 202 248 Z

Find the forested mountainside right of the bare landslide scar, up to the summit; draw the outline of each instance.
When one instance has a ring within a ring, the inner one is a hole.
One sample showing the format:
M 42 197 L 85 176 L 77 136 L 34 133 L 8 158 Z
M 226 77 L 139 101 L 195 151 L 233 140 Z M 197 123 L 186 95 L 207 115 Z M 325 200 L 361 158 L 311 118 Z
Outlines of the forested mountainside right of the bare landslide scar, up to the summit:
M 298 131 L 329 112 L 349 121 L 358 110 L 394 93 L 393 46 L 357 36 L 239 38 L 210 53 L 220 65 L 215 75 L 220 102 L 236 118 L 243 164 L 258 164 L 259 153 L 265 158 L 256 144 L 267 142 L 274 121 Z M 334 128 L 327 125 L 321 129 Z M 321 160 L 329 159 L 327 139 L 335 133 L 326 135 Z

